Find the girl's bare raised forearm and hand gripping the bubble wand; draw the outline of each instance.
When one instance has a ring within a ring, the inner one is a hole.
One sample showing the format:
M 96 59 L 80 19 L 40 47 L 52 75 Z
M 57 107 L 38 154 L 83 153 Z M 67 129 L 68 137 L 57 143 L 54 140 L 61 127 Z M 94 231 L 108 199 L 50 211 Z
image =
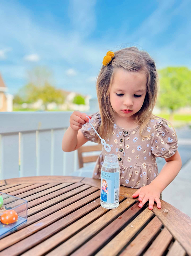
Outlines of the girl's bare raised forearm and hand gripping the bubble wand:
M 62 139 L 63 151 L 74 151 L 88 141 L 81 131 L 79 131 L 83 124 L 89 122 L 86 116 L 85 113 L 79 111 L 74 111 L 70 116 L 70 126 L 67 128 Z

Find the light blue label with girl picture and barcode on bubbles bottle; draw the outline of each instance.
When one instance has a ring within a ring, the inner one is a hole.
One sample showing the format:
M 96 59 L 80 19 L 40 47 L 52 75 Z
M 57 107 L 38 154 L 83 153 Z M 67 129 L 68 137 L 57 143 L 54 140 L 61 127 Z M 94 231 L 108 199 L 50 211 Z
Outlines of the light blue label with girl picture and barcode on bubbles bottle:
M 119 172 L 101 171 L 101 200 L 105 203 L 117 203 L 119 200 Z

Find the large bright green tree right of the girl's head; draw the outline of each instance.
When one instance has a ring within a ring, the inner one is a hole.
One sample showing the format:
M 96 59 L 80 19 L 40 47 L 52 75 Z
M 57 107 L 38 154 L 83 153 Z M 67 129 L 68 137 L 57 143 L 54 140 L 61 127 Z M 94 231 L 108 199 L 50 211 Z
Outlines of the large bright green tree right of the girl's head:
M 167 67 L 159 73 L 159 97 L 157 106 L 169 109 L 170 121 L 180 107 L 191 105 L 191 70 L 187 67 Z

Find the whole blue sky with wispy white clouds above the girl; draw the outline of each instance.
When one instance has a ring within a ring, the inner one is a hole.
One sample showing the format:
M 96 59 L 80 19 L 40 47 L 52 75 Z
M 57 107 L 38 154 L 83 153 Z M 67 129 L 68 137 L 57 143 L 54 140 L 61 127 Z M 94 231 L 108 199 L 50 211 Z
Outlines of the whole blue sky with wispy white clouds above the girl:
M 190 9 L 189 0 L 1 0 L 0 73 L 13 95 L 46 66 L 57 88 L 96 97 L 108 50 L 137 46 L 157 69 L 191 68 Z

